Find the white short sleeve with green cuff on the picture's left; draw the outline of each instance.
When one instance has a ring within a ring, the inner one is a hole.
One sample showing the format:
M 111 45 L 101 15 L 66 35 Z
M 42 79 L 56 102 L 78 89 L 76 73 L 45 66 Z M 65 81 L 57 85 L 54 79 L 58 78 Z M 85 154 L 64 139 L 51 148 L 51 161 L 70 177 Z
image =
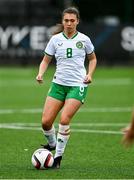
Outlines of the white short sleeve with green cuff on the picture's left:
M 50 56 L 53 56 L 55 54 L 54 38 L 53 37 L 49 40 L 49 42 L 45 48 L 45 53 L 50 55 Z

